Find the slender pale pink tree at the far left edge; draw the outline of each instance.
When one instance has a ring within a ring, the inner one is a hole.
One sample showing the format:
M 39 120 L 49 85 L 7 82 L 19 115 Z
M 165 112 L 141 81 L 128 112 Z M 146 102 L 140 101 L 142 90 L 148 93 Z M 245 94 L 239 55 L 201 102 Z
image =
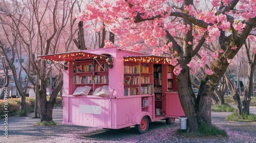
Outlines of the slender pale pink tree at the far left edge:
M 18 3 L 13 3 L 13 7 L 16 7 Z M 22 65 L 21 55 L 24 51 L 17 50 L 20 48 L 19 43 L 19 34 L 14 30 L 16 26 L 19 26 L 20 23 L 12 22 L 9 15 L 16 14 L 18 10 L 22 11 L 22 8 L 17 8 L 14 11 L 11 11 L 10 3 L 3 2 L 0 5 L 1 8 L 1 32 L 3 33 L 0 38 L 0 49 L 1 49 L 1 56 L 5 57 L 4 65 L 6 70 L 6 78 L 7 82 L 6 85 L 8 87 L 9 81 L 8 78 L 8 69 L 12 71 L 13 81 L 15 83 L 16 89 L 20 96 L 20 110 L 25 111 L 26 109 L 26 92 L 27 92 L 27 85 L 29 81 L 25 81 L 22 79 L 22 68 L 17 68 L 14 65 L 15 58 L 17 59 L 17 63 Z M 21 19 L 22 17 L 17 17 L 17 19 Z M 25 81 L 25 86 L 23 86 L 23 82 Z M 7 84 L 8 83 L 8 84 Z

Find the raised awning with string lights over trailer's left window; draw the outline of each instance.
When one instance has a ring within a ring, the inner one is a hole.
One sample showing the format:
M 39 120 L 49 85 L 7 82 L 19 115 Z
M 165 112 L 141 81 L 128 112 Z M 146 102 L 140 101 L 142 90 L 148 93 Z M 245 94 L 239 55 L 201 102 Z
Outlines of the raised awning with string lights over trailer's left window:
M 79 60 L 92 60 L 92 59 L 101 59 L 108 58 L 108 55 L 98 55 L 87 53 L 83 51 L 76 52 L 67 52 L 67 53 L 59 53 L 59 54 L 51 54 L 51 55 L 41 55 L 37 56 L 38 58 L 53 60 L 53 61 L 79 61 Z

